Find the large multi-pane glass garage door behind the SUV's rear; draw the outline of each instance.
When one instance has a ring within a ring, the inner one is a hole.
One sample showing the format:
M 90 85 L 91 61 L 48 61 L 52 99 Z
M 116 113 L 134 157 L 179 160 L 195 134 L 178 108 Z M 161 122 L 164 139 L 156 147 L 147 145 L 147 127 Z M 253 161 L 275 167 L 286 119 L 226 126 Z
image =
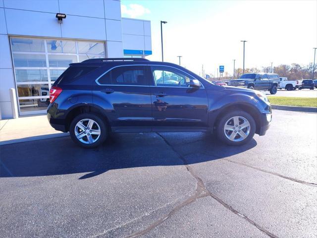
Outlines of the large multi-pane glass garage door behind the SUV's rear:
M 20 115 L 45 113 L 54 81 L 70 63 L 105 58 L 102 42 L 10 38 Z

